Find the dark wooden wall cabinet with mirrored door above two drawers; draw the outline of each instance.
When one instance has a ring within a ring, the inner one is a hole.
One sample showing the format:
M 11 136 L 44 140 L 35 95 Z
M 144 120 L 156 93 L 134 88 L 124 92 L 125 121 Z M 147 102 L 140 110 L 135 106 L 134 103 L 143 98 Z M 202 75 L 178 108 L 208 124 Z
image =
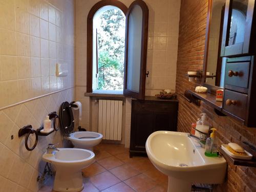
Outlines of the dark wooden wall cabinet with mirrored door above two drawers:
M 222 112 L 255 127 L 256 7 L 254 0 L 226 0 L 221 56 L 226 62 Z

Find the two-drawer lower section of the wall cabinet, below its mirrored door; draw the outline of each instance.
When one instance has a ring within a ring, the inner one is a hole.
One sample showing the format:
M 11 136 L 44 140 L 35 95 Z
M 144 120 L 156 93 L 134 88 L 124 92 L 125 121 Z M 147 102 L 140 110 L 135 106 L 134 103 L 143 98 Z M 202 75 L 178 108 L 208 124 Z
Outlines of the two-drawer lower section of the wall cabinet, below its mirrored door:
M 226 59 L 222 112 L 256 127 L 256 64 L 254 56 Z

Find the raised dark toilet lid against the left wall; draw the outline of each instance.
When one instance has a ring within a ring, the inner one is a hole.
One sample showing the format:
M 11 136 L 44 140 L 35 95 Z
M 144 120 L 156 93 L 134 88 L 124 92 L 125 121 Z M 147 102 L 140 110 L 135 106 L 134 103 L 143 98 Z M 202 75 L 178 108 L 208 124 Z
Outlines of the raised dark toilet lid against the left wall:
M 60 130 L 69 136 L 74 130 L 74 116 L 68 101 L 63 102 L 59 109 Z

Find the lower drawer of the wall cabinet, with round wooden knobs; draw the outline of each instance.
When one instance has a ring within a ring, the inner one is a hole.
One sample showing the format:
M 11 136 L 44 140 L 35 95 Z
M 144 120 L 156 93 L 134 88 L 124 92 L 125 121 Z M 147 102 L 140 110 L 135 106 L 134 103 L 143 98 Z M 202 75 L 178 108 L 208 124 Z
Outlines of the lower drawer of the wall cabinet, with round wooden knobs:
M 247 95 L 225 90 L 224 110 L 241 118 L 246 117 Z

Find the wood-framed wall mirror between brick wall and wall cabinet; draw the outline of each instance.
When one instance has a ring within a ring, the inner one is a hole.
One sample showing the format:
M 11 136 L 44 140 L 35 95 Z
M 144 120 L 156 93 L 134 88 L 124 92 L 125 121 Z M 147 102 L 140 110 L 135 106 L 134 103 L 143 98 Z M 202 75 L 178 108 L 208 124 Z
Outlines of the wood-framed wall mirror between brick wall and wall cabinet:
M 208 37 L 206 37 L 207 53 L 204 69 L 207 72 L 205 83 L 211 86 L 224 87 L 225 57 L 220 57 L 223 31 L 223 19 L 226 0 L 209 1 Z

